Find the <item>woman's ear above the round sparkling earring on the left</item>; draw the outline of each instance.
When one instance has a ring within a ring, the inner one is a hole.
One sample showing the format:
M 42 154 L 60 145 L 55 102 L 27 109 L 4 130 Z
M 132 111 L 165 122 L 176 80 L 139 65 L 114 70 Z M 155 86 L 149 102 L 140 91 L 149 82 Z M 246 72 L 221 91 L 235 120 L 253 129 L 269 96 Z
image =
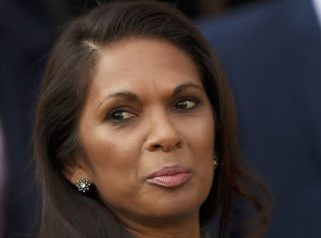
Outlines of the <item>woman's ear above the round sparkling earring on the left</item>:
M 91 177 L 91 170 L 80 157 L 68 157 L 63 160 L 63 176 L 76 185 L 77 181 L 81 178 L 86 178 L 89 182 L 93 183 Z

